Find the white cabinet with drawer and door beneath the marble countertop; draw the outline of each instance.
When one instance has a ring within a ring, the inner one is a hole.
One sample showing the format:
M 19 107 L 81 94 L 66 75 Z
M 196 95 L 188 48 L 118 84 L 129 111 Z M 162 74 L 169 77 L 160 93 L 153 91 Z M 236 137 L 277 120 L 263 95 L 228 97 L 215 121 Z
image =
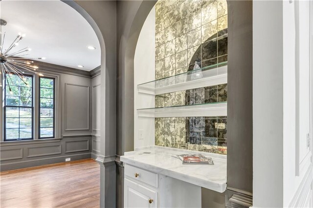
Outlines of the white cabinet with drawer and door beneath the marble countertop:
M 200 208 L 201 187 L 125 164 L 125 208 Z

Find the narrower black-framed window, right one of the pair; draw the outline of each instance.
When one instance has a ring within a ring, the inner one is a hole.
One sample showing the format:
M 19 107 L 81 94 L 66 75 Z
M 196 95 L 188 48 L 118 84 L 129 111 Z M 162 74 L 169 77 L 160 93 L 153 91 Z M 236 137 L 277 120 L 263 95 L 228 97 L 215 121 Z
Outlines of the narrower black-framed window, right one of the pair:
M 39 139 L 54 138 L 55 79 L 39 78 Z

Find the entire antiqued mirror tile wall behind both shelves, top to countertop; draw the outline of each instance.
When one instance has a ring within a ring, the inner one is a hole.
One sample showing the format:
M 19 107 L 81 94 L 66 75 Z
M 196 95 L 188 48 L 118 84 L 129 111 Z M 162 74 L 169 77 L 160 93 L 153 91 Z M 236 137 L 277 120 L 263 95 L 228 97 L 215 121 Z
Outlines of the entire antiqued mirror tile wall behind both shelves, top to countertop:
M 227 65 L 226 0 L 156 3 L 156 80 Z M 159 94 L 155 107 L 227 102 L 227 83 Z M 226 154 L 227 117 L 155 119 L 155 145 Z

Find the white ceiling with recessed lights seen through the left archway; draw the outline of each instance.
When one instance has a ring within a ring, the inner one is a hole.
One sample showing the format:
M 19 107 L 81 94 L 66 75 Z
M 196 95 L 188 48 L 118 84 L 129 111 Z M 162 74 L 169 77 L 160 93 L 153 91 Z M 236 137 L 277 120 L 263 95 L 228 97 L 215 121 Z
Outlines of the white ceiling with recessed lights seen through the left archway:
M 27 58 L 46 57 L 39 61 L 86 71 L 101 64 L 95 32 L 85 18 L 60 0 L 2 0 L 0 18 L 7 21 L 1 28 L 6 32 L 4 48 L 22 32 L 26 36 L 15 50 L 29 46 L 32 50 Z M 89 50 L 89 45 L 96 49 Z

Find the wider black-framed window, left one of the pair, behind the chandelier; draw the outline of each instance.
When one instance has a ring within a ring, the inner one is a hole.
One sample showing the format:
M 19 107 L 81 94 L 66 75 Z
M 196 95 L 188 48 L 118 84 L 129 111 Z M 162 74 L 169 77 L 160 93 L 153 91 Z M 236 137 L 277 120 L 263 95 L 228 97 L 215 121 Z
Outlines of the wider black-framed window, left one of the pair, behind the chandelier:
M 34 139 L 33 77 L 4 75 L 4 141 Z

